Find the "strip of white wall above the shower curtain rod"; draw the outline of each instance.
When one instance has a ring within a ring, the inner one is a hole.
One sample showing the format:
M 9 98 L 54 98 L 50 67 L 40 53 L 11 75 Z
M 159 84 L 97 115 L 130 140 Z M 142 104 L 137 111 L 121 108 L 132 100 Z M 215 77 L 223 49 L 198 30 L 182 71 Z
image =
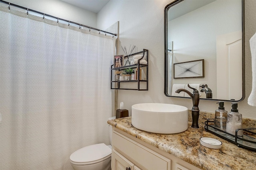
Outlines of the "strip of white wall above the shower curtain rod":
M 60 0 L 6 0 L 7 2 L 30 8 L 65 20 L 96 27 L 97 14 L 72 6 Z M 2 3 L 1 3 L 2 4 Z M 14 8 L 11 6 L 11 8 Z

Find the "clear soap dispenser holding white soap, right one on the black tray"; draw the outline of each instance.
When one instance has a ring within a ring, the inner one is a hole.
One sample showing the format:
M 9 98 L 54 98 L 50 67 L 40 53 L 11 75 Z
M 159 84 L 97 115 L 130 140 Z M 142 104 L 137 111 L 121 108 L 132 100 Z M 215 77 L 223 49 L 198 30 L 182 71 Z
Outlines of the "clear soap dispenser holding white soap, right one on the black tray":
M 238 113 L 237 107 L 238 107 L 237 103 L 232 103 L 231 112 L 228 113 L 228 117 L 227 117 L 226 132 L 232 135 L 236 134 L 236 129 L 243 128 L 242 115 Z M 239 130 L 237 135 L 243 136 L 243 130 Z

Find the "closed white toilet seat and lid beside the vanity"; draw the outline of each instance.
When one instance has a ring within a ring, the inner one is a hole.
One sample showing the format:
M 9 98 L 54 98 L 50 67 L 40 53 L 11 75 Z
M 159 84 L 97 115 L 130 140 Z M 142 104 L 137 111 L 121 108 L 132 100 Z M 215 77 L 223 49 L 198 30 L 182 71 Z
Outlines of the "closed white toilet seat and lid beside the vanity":
M 110 158 L 111 153 L 107 145 L 99 143 L 76 150 L 70 155 L 70 162 L 74 165 L 95 164 Z

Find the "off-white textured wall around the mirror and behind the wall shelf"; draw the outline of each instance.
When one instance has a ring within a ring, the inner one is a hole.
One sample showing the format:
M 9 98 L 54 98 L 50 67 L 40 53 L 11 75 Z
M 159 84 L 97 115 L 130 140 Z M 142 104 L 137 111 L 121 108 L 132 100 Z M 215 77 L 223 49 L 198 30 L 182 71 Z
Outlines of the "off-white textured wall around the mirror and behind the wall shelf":
M 164 7 L 172 0 L 110 0 L 98 13 L 97 27 L 106 29 L 120 21 L 120 45 L 136 45 L 137 50 L 149 50 L 149 90 L 118 90 L 118 106 L 124 102 L 131 114 L 131 106 L 138 103 L 168 103 L 192 108 L 191 99 L 171 98 L 164 95 Z M 252 68 L 249 39 L 256 32 L 256 1 L 245 2 L 245 54 L 246 54 L 246 98 L 238 103 L 244 117 L 256 119 L 256 108 L 247 104 L 252 88 Z M 120 51 L 122 52 L 122 51 Z M 230 102 L 225 102 L 230 111 Z M 216 101 L 201 100 L 202 111 L 214 112 Z

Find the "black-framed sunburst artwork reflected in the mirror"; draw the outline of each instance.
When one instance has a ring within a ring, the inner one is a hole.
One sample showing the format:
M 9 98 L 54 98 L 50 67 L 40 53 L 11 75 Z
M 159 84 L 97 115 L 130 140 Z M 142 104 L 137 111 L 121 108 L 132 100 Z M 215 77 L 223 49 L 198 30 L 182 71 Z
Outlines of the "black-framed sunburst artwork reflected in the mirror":
M 204 77 L 204 59 L 175 63 L 174 78 Z

